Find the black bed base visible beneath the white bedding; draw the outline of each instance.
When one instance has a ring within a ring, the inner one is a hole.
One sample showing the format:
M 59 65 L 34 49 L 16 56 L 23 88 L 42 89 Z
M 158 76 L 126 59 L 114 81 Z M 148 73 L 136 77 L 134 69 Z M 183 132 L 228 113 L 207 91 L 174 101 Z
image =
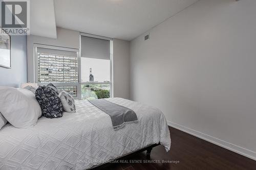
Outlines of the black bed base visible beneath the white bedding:
M 128 158 L 128 157 L 131 157 L 131 156 L 134 155 L 134 154 L 141 153 L 141 152 L 144 152 L 144 151 L 146 151 L 146 158 L 147 158 L 147 159 L 150 159 L 150 154 L 151 154 L 152 149 L 153 149 L 154 147 L 157 147 L 158 145 L 160 145 L 160 143 L 158 143 L 158 144 L 152 144 L 152 145 L 150 145 L 150 146 L 148 146 L 148 147 L 146 147 L 146 148 L 142 148 L 142 149 L 140 149 L 140 150 L 137 150 L 137 151 L 135 151 L 135 152 L 129 153 L 129 154 L 127 154 L 127 155 L 124 155 L 124 156 L 119 157 L 119 158 L 114 159 L 114 160 L 125 159 L 125 158 Z M 110 166 L 111 164 L 113 164 L 113 163 L 104 163 L 104 164 L 100 164 L 100 165 L 98 165 L 98 166 L 94 166 L 92 169 L 103 169 L 103 168 L 106 168 L 106 167 Z

